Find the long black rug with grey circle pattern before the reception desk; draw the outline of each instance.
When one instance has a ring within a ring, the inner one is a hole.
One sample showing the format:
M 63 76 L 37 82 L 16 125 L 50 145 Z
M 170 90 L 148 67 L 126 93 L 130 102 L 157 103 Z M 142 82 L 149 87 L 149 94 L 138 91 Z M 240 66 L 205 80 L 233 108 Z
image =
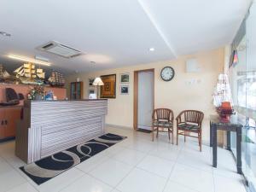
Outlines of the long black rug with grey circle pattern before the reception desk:
M 100 153 L 115 143 L 123 141 L 125 138 L 108 133 L 73 148 L 68 148 L 57 154 L 45 157 L 42 160 L 21 166 L 20 170 L 25 172 L 28 177 L 39 185 L 62 172 L 66 172 L 84 160 L 88 160 L 93 155 Z

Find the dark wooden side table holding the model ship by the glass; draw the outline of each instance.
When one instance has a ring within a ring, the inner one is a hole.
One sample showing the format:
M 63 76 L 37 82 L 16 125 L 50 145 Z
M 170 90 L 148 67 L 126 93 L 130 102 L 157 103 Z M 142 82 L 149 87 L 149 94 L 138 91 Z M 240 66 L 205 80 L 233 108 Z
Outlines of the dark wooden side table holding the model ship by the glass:
M 241 174 L 241 128 L 236 115 L 232 115 L 229 123 L 224 123 L 218 115 L 210 116 L 210 146 L 212 147 L 212 166 L 217 167 L 217 141 L 218 130 L 227 131 L 227 149 L 230 148 L 230 131 L 236 132 L 236 168 L 237 173 Z

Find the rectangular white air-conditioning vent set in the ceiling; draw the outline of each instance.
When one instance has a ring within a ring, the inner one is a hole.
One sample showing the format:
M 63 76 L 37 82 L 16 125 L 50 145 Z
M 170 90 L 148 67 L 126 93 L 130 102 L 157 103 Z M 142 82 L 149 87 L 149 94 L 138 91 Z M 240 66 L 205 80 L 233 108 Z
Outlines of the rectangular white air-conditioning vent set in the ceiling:
M 78 49 L 73 49 L 71 47 L 68 47 L 67 45 L 60 44 L 55 41 L 50 41 L 47 44 L 43 44 L 39 46 L 38 49 L 44 50 L 55 55 L 60 55 L 65 58 L 72 58 L 82 54 L 82 52 Z

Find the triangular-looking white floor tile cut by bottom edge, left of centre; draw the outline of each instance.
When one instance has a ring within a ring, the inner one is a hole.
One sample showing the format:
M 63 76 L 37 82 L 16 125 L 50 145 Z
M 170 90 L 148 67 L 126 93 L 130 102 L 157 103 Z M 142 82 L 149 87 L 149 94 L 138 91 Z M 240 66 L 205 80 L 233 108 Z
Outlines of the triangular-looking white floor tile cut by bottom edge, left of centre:
M 80 177 L 61 192 L 110 192 L 113 188 L 89 175 Z

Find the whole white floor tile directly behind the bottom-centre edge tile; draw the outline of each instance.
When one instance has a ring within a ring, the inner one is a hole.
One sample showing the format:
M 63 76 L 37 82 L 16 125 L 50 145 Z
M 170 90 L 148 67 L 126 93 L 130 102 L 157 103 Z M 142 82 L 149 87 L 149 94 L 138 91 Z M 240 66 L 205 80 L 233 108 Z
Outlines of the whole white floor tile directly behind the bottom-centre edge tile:
M 174 162 L 171 160 L 165 160 L 153 155 L 147 155 L 138 165 L 138 168 L 153 172 L 161 177 L 169 177 L 172 172 Z

